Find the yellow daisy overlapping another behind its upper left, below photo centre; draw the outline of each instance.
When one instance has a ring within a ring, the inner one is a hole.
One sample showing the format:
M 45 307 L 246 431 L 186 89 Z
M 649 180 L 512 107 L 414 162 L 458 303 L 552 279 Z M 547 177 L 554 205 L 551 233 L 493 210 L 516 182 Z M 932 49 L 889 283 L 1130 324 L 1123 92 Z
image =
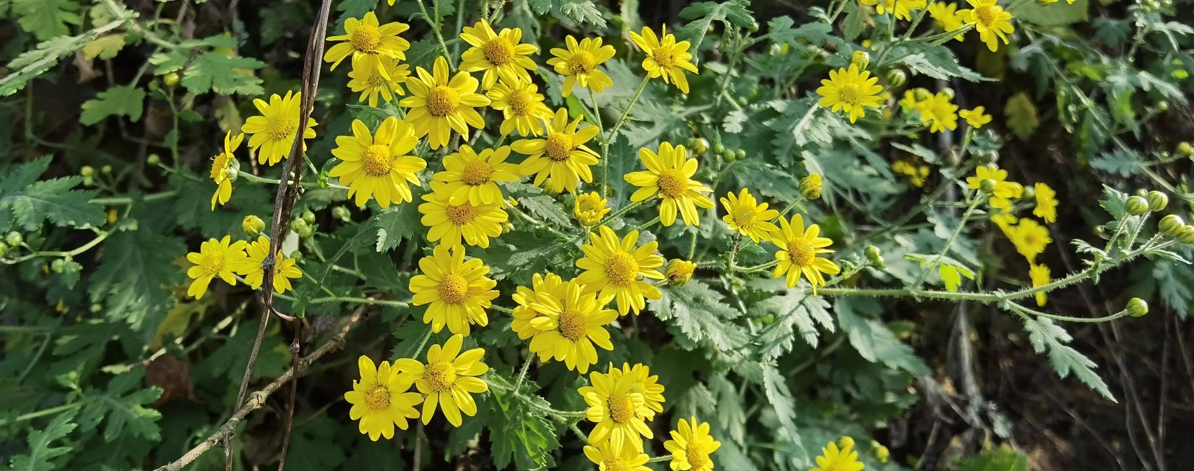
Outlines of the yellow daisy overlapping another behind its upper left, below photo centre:
M 613 350 L 605 325 L 617 319 L 617 311 L 604 308 L 610 299 L 597 299 L 596 293 L 583 293 L 577 280 L 560 288 L 535 293 L 530 307 L 537 313 L 530 325 L 538 330 L 530 341 L 530 351 L 540 361 L 564 361 L 568 369 L 584 374 L 597 363 L 593 345 Z

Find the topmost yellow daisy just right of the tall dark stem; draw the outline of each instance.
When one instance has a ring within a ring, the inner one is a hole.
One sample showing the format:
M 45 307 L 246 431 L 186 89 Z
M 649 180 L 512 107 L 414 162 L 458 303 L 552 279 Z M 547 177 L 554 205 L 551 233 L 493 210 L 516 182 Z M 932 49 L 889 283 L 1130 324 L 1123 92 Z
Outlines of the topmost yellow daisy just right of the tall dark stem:
M 324 61 L 332 62 L 331 69 L 336 71 L 336 66 L 339 66 L 340 61 L 349 55 L 352 56 L 353 62 L 365 56 L 386 56 L 405 60 L 405 51 L 411 49 L 411 43 L 398 37 L 398 35 L 410 29 L 410 25 L 399 22 L 378 25 L 377 16 L 374 12 L 365 13 L 361 19 L 349 18 L 344 20 L 345 35 L 327 38 L 327 41 L 343 42 L 328 48 L 327 53 L 324 54 Z M 382 77 L 390 78 L 387 75 L 387 71 L 382 68 L 381 62 L 373 62 L 373 66 L 377 68 Z

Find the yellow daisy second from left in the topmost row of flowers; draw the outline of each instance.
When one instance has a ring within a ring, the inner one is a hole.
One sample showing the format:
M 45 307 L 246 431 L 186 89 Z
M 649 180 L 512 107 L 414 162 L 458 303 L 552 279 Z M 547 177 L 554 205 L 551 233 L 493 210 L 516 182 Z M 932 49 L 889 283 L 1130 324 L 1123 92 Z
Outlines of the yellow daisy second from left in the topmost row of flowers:
M 464 26 L 460 38 L 472 48 L 461 54 L 460 69 L 464 72 L 485 71 L 481 75 L 481 88 L 488 90 L 497 84 L 498 77 L 513 80 L 516 77 L 530 81 L 530 73 L 538 68 L 527 55 L 538 53 L 535 44 L 518 44 L 522 41 L 522 29 L 501 29 L 494 32 L 486 20 L 476 22 L 472 27 Z M 463 133 L 462 133 L 463 134 Z

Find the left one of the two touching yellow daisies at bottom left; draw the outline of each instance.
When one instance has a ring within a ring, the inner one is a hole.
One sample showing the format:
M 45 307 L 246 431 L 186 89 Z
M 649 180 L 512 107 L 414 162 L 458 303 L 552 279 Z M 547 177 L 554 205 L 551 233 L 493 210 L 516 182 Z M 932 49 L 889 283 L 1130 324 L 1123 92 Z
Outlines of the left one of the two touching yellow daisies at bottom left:
M 423 394 L 407 392 L 412 380 L 399 375 L 398 365 L 392 368 L 388 361 L 382 361 L 377 367 L 368 356 L 361 355 L 357 368 L 361 369 L 361 381 L 352 381 L 352 391 L 345 392 L 344 399 L 352 404 L 349 418 L 361 421 L 361 433 L 369 434 L 369 440 L 377 441 L 378 436 L 393 439 L 394 424 L 406 430 L 407 418 L 419 418 L 414 405 L 423 402 Z

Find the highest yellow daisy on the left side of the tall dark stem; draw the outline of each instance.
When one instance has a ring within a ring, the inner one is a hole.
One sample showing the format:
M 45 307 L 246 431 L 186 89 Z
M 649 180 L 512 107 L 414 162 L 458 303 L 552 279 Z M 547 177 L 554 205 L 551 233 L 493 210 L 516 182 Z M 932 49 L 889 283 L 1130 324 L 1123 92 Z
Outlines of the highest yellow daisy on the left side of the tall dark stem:
M 283 158 L 290 157 L 290 147 L 298 136 L 298 105 L 302 102 L 302 93 L 287 92 L 285 98 L 277 93 L 270 96 L 270 103 L 260 98 L 253 99 L 253 105 L 261 112 L 261 116 L 250 116 L 245 120 L 245 126 L 240 130 L 252 134 L 248 137 L 248 147 L 257 151 L 257 161 L 261 165 L 277 164 Z M 307 118 L 307 128 L 302 131 L 302 151 L 307 152 L 307 139 L 315 137 L 315 118 Z

